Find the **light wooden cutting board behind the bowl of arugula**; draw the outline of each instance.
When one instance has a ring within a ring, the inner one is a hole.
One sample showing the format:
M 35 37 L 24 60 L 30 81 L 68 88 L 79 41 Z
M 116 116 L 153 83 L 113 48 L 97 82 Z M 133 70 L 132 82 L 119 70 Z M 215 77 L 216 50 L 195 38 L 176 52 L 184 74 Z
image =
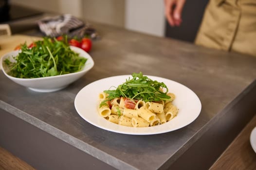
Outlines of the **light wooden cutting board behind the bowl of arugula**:
M 29 45 L 33 41 L 39 40 L 40 37 L 36 36 L 27 36 L 27 35 L 1 35 L 0 36 L 0 57 L 5 53 L 13 51 L 15 47 L 20 44 L 27 43 Z

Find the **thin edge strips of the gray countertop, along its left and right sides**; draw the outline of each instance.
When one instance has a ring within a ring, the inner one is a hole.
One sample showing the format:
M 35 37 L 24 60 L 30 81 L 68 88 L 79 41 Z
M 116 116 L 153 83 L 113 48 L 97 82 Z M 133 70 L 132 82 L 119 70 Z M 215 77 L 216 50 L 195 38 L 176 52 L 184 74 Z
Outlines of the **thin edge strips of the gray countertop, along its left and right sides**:
M 165 169 L 166 167 L 169 167 L 174 162 L 176 162 L 183 153 L 186 153 L 191 146 L 193 146 L 197 141 L 209 130 L 211 129 L 214 124 L 218 122 L 225 114 L 227 114 L 230 110 L 232 110 L 235 106 L 237 106 L 237 103 L 240 102 L 244 97 L 246 97 L 254 88 L 256 88 L 256 80 L 254 80 L 250 85 L 248 85 L 245 89 L 243 89 L 238 96 L 234 98 L 233 101 L 229 102 L 223 110 L 221 110 L 215 117 L 213 117 L 211 120 L 209 120 L 204 126 L 201 127 L 201 129 L 195 133 L 194 136 L 192 136 L 187 143 L 185 143 L 176 153 L 171 155 L 167 161 L 159 167 L 159 169 Z M 50 135 L 53 135 L 57 137 L 58 139 L 72 145 L 73 147 L 103 161 L 104 163 L 109 164 L 110 166 L 117 168 L 117 169 L 124 169 L 124 170 L 137 170 L 136 167 L 133 167 L 127 163 L 125 163 L 122 160 L 117 159 L 116 157 L 105 153 L 85 142 L 82 140 L 79 140 L 75 138 L 74 136 L 71 136 L 54 126 L 51 126 L 45 122 L 43 122 L 40 119 L 37 119 L 29 114 L 27 114 L 24 111 L 21 111 L 11 104 L 8 104 L 6 102 L 3 102 L 0 100 L 0 108 L 5 110 L 6 112 L 18 117 L 19 119 L 24 120 L 25 122 L 28 122 L 35 127 L 43 130 L 44 132 L 47 132 Z

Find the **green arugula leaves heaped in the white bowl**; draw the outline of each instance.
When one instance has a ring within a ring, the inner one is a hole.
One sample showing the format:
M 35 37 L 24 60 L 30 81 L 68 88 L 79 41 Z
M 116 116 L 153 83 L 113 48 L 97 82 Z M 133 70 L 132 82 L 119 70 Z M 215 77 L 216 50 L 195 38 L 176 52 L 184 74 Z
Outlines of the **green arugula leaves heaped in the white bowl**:
M 39 78 L 62 75 L 80 71 L 84 68 L 86 58 L 72 51 L 65 41 L 44 37 L 36 41 L 32 48 L 26 43 L 21 52 L 14 56 L 16 62 L 9 58 L 4 63 L 10 69 L 9 75 L 17 78 Z

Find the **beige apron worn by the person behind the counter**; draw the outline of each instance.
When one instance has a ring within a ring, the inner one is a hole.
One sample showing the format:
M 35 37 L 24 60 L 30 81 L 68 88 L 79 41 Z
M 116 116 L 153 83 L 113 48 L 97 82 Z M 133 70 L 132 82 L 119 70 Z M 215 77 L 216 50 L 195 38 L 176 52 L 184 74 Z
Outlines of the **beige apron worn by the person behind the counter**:
M 210 0 L 195 43 L 256 56 L 256 0 Z

